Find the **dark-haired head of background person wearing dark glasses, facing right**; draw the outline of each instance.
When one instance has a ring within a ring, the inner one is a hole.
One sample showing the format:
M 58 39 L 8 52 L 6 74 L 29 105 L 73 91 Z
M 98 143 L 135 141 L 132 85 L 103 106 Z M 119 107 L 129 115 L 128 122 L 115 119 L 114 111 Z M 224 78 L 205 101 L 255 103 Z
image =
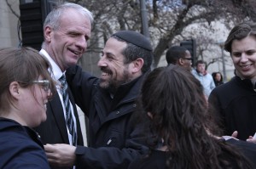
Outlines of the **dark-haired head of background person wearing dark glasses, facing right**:
M 166 61 L 167 64 L 170 65 L 180 65 L 187 70 L 192 70 L 192 57 L 188 49 L 173 46 L 168 48 L 166 52 Z

